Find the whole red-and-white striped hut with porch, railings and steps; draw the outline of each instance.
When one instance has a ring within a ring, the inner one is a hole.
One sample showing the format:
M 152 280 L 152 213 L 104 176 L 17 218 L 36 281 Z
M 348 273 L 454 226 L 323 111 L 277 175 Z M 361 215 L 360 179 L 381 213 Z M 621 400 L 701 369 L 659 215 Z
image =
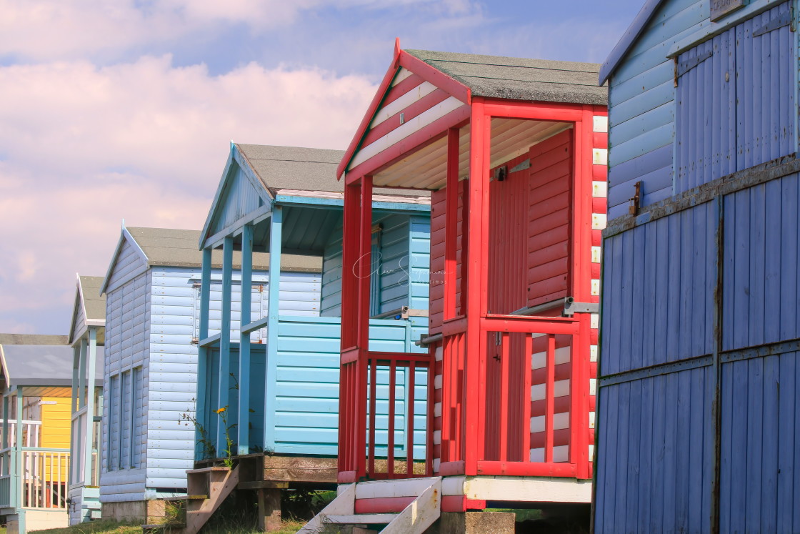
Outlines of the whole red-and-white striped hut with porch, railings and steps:
M 471 511 L 567 505 L 582 505 L 588 524 L 606 219 L 598 69 L 397 43 L 338 167 L 341 485 L 301 532 L 326 523 L 426 532 L 437 521 L 440 532 L 514 532 L 513 513 Z M 431 195 L 422 357 L 376 351 L 367 336 L 373 284 L 358 259 L 370 251 L 378 187 Z M 405 405 L 406 421 L 426 421 L 424 454 L 398 453 L 402 412 L 390 387 L 389 454 L 379 461 L 382 367 L 390 382 L 401 371 L 434 375 L 426 402 Z

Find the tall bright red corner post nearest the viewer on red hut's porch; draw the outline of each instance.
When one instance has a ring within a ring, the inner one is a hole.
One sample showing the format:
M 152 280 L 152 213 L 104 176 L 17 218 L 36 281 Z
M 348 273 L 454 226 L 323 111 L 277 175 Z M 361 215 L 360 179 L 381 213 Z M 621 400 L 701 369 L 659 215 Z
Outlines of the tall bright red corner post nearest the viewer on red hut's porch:
M 468 255 L 466 256 L 467 275 L 470 285 L 463 287 L 468 292 L 466 299 L 466 361 L 465 361 L 465 391 L 466 404 L 462 429 L 462 436 L 466 441 L 465 447 L 465 474 L 474 476 L 478 474 L 478 460 L 482 460 L 482 443 L 484 439 L 483 424 L 486 412 L 482 398 L 485 388 L 481 380 L 482 360 L 485 359 L 486 339 L 482 339 L 480 321 L 486 314 L 486 272 L 484 270 L 485 251 L 487 242 L 483 235 L 486 226 L 484 207 L 488 202 L 489 193 L 489 163 L 486 158 L 489 145 L 490 118 L 486 117 L 483 101 L 474 98 L 470 117 L 470 213 L 468 242 Z M 483 357 L 482 357 L 483 356 Z

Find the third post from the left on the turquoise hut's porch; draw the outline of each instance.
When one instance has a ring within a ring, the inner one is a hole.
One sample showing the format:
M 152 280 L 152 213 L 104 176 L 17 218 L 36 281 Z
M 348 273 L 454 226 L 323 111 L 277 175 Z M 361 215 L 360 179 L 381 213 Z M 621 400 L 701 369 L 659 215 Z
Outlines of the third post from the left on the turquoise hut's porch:
M 242 228 L 242 291 L 239 324 L 250 323 L 250 306 L 253 299 L 253 227 Z M 250 332 L 239 335 L 239 413 L 236 418 L 237 453 L 250 453 Z

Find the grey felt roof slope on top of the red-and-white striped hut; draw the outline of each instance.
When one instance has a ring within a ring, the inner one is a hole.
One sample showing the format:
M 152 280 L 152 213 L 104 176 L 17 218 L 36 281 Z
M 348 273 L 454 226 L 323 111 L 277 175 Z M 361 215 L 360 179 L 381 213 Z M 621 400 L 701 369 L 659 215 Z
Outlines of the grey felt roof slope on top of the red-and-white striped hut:
M 406 52 L 462 82 L 473 96 L 602 106 L 608 102 L 606 87 L 598 87 L 600 66 L 596 63 L 428 50 Z

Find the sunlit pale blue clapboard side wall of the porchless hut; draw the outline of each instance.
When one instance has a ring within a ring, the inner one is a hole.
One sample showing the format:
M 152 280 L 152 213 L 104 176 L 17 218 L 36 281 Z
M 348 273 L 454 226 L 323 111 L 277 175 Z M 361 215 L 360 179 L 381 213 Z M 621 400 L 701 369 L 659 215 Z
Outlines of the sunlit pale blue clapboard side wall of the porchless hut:
M 153 317 L 150 349 L 150 407 L 147 429 L 148 488 L 185 488 L 186 469 L 193 467 L 194 427 L 176 424 L 178 416 L 194 410 L 197 395 L 197 345 L 200 268 L 153 269 Z M 238 276 L 234 277 L 238 279 Z M 219 331 L 222 303 L 222 271 L 212 270 L 209 335 Z M 216 281 L 216 282 L 215 282 Z M 267 313 L 269 274 L 253 274 L 252 320 Z M 319 314 L 321 277 L 316 273 L 282 273 L 280 312 L 287 315 Z M 231 339 L 238 339 L 240 283 L 233 284 Z M 254 340 L 266 341 L 266 328 L 254 333 Z M 158 417 L 158 420 L 154 418 Z M 157 456 L 154 457 L 154 456 Z

